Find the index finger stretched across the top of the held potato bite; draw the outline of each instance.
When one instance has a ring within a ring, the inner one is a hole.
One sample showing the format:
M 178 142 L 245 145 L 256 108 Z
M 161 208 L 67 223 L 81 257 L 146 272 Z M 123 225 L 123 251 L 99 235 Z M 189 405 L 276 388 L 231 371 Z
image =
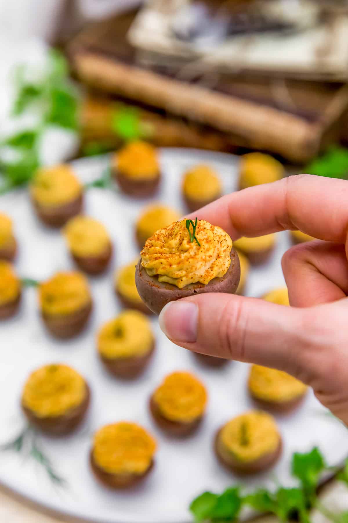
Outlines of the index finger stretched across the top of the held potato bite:
M 300 230 L 319 240 L 345 243 L 348 181 L 309 174 L 232 192 L 191 217 L 219 225 L 232 240 Z

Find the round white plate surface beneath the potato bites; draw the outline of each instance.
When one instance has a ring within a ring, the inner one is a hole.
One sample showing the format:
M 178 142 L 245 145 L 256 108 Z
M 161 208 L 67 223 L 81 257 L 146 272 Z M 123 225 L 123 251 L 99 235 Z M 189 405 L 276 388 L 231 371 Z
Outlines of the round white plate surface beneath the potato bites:
M 209 161 L 224 183 L 225 192 L 236 187 L 237 159 L 233 156 L 185 150 L 162 150 L 163 184 L 159 198 L 182 208 L 180 179 L 192 164 Z M 105 158 L 74 163 L 83 180 L 99 177 Z M 25 423 L 19 397 L 28 373 L 47 362 L 66 362 L 86 377 L 92 389 L 89 422 L 75 435 L 63 439 L 42 437 L 42 446 L 57 471 L 69 482 L 67 491 L 56 490 L 43 470 L 31 460 L 11 453 L 0 454 L 0 482 L 50 508 L 64 513 L 107 523 L 182 523 L 189 521 L 189 502 L 204 490 L 220 492 L 236 478 L 224 471 L 214 457 L 215 430 L 227 419 L 253 406 L 246 391 L 248 365 L 231 362 L 213 370 L 199 366 L 185 349 L 176 347 L 161 333 L 157 319 L 153 328 L 157 351 L 143 376 L 122 382 L 103 370 L 95 350 L 95 332 L 121 309 L 113 292 L 113 271 L 133 260 L 137 253 L 134 222 L 148 202 L 137 202 L 117 191 L 91 189 L 86 195 L 86 212 L 104 222 L 115 244 L 110 271 L 91 279 L 95 308 L 89 329 L 80 337 L 58 342 L 49 337 L 40 321 L 34 289 L 23 291 L 20 313 L 0 325 L 0 442 L 18 433 Z M 44 279 L 55 270 L 73 267 L 59 232 L 40 225 L 31 210 L 25 191 L 0 198 L 0 210 L 15 222 L 20 252 L 16 268 L 21 276 Z M 271 263 L 253 269 L 248 294 L 259 296 L 284 284 L 280 259 L 289 246 L 287 233 L 279 234 Z M 207 385 L 208 411 L 199 432 L 186 440 L 171 440 L 154 426 L 148 413 L 148 398 L 166 373 L 189 369 Z M 295 450 L 318 445 L 329 464 L 348 454 L 346 429 L 325 415 L 312 393 L 305 404 L 286 418 L 278 418 L 284 439 L 281 460 L 267 476 L 247 479 L 248 487 L 263 483 L 273 486 L 272 474 L 284 484 L 291 483 L 289 462 Z M 101 425 L 121 419 L 134 420 L 157 438 L 159 449 L 153 472 L 135 491 L 109 492 L 95 482 L 89 470 L 88 452 L 93 432 Z

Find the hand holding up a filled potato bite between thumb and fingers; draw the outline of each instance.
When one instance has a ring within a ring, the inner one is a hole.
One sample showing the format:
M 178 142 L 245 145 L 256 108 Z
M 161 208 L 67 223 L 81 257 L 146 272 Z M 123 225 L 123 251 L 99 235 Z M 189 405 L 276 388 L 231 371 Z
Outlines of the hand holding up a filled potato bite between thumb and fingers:
M 292 374 L 348 425 L 348 182 L 290 176 L 224 196 L 195 215 L 220 225 L 232 240 L 286 229 L 319 240 L 283 256 L 290 308 L 198 294 L 165 306 L 162 331 L 198 353 Z

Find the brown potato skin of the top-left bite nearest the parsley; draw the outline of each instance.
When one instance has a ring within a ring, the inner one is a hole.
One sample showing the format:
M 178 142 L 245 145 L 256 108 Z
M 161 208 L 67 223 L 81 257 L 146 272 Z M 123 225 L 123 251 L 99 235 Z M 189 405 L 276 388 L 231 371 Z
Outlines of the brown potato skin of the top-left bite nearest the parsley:
M 81 214 L 83 209 L 83 194 L 75 200 L 57 206 L 43 206 L 32 199 L 33 207 L 40 220 L 49 227 L 62 227 L 70 218 Z

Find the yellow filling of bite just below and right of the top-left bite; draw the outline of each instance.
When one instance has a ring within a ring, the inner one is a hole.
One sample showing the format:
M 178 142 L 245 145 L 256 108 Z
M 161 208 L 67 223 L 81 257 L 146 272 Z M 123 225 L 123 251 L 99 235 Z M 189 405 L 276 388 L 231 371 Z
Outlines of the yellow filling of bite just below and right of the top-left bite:
M 71 218 L 64 228 L 70 251 L 76 256 L 98 256 L 110 245 L 104 225 L 88 216 Z

